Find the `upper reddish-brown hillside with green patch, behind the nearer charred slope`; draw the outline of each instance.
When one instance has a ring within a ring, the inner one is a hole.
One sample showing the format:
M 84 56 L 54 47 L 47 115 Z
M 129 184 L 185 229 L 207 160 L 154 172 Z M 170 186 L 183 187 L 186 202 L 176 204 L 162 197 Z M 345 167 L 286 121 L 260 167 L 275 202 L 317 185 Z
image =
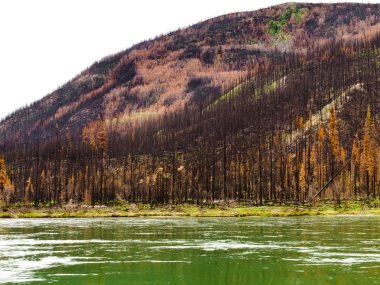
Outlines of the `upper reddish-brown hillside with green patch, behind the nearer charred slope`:
M 379 28 L 378 4 L 284 4 L 210 19 L 93 64 L 0 123 L 8 144 L 80 134 L 97 120 L 119 127 L 214 100 L 278 52 Z M 123 36 L 123 35 L 120 35 Z M 22 78 L 20 78 L 22 82 Z M 11 111 L 11 110 L 10 110 Z

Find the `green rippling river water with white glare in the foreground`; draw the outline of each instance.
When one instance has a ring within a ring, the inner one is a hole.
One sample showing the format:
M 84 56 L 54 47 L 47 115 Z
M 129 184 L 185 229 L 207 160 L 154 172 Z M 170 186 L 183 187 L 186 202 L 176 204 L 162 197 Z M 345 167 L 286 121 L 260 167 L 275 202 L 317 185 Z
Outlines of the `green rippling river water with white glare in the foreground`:
M 4 219 L 0 284 L 380 284 L 380 218 Z

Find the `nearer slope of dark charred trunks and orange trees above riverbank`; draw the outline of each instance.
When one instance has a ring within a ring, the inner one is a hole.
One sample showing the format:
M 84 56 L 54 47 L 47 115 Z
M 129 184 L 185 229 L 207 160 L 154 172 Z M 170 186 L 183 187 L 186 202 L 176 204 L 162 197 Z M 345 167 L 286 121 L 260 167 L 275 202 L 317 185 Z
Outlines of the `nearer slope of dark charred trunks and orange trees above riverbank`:
M 276 53 L 219 96 L 2 145 L 6 204 L 254 205 L 380 195 L 380 35 Z M 215 99 L 217 98 L 217 99 Z

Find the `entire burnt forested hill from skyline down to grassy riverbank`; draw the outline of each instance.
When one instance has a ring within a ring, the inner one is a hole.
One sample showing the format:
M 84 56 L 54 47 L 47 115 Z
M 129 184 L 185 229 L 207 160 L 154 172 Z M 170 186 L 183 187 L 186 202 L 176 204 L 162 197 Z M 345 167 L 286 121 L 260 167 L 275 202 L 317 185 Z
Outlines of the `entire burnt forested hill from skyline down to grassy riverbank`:
M 285 4 L 106 58 L 3 121 L 0 201 L 376 204 L 379 13 Z

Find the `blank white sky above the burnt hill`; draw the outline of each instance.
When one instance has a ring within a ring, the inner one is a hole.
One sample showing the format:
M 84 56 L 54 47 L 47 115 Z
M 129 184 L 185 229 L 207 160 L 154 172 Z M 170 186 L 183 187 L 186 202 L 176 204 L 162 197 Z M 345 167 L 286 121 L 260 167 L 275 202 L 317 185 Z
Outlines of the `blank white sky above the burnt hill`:
M 52 92 L 94 61 L 142 40 L 283 2 L 0 0 L 0 118 Z

